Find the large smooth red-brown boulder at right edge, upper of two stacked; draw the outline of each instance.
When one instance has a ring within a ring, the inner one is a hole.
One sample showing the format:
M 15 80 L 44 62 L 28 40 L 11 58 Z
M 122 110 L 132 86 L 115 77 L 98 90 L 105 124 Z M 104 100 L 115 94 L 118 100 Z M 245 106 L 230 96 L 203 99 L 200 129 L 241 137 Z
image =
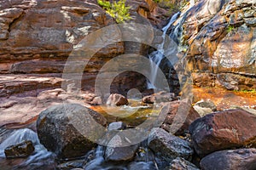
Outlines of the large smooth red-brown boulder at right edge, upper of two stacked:
M 256 116 L 241 109 L 220 111 L 195 120 L 189 133 L 199 156 L 216 150 L 255 146 Z

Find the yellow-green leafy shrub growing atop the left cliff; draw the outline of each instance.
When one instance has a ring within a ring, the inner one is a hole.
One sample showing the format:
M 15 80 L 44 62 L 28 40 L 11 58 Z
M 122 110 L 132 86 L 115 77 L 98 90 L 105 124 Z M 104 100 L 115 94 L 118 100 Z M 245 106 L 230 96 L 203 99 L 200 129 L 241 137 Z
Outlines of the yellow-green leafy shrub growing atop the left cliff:
M 106 12 L 116 20 L 117 23 L 123 23 L 125 21 L 131 20 L 129 13 L 130 6 L 125 6 L 126 0 L 120 0 L 119 2 L 110 3 L 105 0 L 97 0 L 97 3 L 104 9 Z

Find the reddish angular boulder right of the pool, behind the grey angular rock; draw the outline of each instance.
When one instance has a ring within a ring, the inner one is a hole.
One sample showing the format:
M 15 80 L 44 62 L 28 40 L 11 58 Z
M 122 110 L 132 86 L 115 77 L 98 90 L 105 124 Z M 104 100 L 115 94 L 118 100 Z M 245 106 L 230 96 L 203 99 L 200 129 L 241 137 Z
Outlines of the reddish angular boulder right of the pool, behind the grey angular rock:
M 184 135 L 189 131 L 189 125 L 201 116 L 194 110 L 187 100 L 172 101 L 165 106 L 166 119 L 161 125 L 169 133 Z M 175 120 L 175 122 L 173 122 Z M 172 127 L 174 126 L 175 127 Z

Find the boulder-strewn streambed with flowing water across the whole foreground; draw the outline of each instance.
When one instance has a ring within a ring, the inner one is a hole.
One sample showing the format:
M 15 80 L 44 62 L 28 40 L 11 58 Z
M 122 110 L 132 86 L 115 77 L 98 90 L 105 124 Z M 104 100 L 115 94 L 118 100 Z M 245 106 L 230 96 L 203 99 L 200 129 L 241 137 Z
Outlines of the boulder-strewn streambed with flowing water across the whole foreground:
M 154 99 L 155 96 L 158 95 L 146 96 L 143 101 L 148 102 L 148 98 Z M 166 100 L 166 95 L 163 96 Z M 111 99 L 116 102 L 117 98 Z M 201 117 L 195 106 L 194 109 L 187 100 L 176 100 L 173 95 L 169 95 L 166 102 L 155 100 L 157 106 L 154 109 L 154 105 L 143 101 L 137 99 L 129 100 L 129 105 L 91 107 L 94 111 L 79 104 L 54 105 L 42 111 L 37 122 L 34 119 L 23 127 L 17 127 L 17 124 L 3 126 L 0 136 L 1 167 L 255 169 L 256 133 L 253 129 L 256 115 L 252 112 L 215 110 Z M 205 101 L 203 107 L 217 108 L 213 102 L 210 103 Z M 182 126 L 172 133 L 178 110 L 188 105 L 187 116 L 180 119 L 183 120 Z M 119 116 L 117 119 L 114 114 L 107 116 L 108 109 L 115 114 L 126 114 L 125 118 Z M 127 116 L 129 111 L 131 116 Z M 159 127 L 148 129 L 139 126 L 163 113 L 165 119 Z M 145 139 L 144 132 L 148 132 Z M 132 139 L 141 140 L 133 143 Z

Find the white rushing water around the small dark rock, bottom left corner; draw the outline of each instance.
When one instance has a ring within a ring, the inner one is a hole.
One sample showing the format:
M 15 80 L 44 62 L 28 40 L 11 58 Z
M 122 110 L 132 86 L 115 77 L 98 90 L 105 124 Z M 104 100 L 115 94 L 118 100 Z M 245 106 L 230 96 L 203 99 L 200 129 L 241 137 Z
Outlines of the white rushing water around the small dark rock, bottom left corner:
M 20 144 L 23 141 L 31 140 L 35 148 L 31 156 L 24 159 L 19 165 L 15 165 L 17 168 L 31 169 L 37 167 L 44 167 L 50 164 L 54 164 L 55 156 L 52 152 L 49 152 L 44 148 L 44 145 L 40 144 L 38 134 L 31 129 L 24 128 L 15 130 L 9 138 L 5 139 L 0 144 L 0 158 L 5 159 L 4 149 L 9 145 Z M 1 161 L 1 160 L 0 160 Z

